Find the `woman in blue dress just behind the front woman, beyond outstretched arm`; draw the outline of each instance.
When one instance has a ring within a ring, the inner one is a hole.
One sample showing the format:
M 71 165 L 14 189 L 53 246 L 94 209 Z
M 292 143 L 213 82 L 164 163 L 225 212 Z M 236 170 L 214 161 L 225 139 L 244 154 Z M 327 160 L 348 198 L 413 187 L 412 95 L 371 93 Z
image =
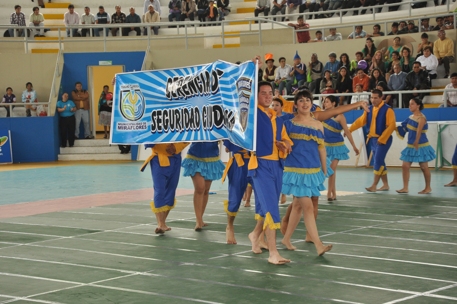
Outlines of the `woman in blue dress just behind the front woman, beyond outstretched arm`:
M 334 95 L 329 95 L 325 97 L 324 103 L 322 104 L 324 110 L 333 109 L 338 106 L 338 99 Z M 359 150 L 354 144 L 352 139 L 351 132 L 346 124 L 346 118 L 343 114 L 336 115 L 330 119 L 327 119 L 322 122 L 324 125 L 324 136 L 325 136 L 325 149 L 327 150 L 327 157 L 332 162 L 330 168 L 332 168 L 334 174 L 329 176 L 329 189 L 327 192 L 327 201 L 336 200 L 336 188 L 335 188 L 335 177 L 336 177 L 336 166 L 340 160 L 349 159 L 349 149 L 344 143 L 343 136 L 341 136 L 341 131 L 344 130 L 345 136 L 351 142 L 352 148 L 356 155 L 359 154 Z

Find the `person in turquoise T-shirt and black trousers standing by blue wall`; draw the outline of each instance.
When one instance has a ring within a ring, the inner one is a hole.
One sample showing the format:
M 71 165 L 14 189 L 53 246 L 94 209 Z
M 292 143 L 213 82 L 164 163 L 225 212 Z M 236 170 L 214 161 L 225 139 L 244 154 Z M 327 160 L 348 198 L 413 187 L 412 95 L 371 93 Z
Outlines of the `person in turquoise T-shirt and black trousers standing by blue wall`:
M 70 147 L 74 145 L 74 129 L 76 128 L 74 120 L 74 112 L 76 107 L 71 100 L 68 100 L 68 94 L 62 94 L 62 100 L 57 102 L 57 112 L 60 116 L 59 118 L 59 128 L 60 128 L 60 147 L 67 147 L 67 134 L 68 134 L 68 143 Z

